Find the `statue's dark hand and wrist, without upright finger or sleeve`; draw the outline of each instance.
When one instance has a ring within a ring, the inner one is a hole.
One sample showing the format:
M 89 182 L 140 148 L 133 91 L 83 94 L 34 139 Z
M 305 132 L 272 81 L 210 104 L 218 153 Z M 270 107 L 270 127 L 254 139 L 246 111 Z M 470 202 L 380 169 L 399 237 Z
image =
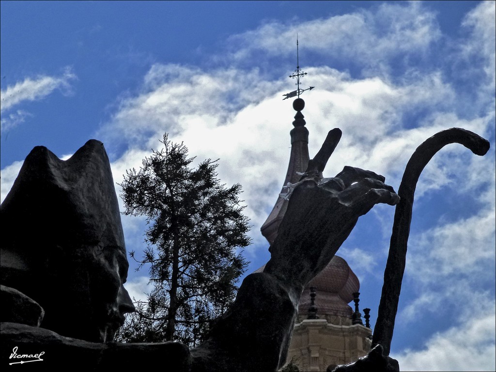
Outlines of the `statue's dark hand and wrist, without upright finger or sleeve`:
M 264 272 L 301 292 L 375 204 L 395 205 L 398 195 L 371 171 L 345 167 L 334 178 L 306 176 L 292 192 L 287 218 L 270 247 Z

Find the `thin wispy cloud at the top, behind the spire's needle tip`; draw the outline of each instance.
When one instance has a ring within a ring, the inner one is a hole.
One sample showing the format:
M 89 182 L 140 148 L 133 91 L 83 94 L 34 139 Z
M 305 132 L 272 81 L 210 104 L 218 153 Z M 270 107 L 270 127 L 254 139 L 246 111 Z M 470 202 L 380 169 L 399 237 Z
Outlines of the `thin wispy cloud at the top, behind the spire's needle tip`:
M 359 9 L 307 22 L 267 22 L 256 30 L 232 36 L 231 53 L 218 60 L 248 65 L 260 52 L 268 57 L 293 56 L 295 45 L 288 40 L 295 40 L 297 33 L 302 52 L 339 56 L 360 65 L 367 75 L 387 73 L 388 60 L 394 57 L 408 64 L 410 57 L 423 56 L 440 38 L 434 13 L 421 2 L 383 3 L 373 10 Z

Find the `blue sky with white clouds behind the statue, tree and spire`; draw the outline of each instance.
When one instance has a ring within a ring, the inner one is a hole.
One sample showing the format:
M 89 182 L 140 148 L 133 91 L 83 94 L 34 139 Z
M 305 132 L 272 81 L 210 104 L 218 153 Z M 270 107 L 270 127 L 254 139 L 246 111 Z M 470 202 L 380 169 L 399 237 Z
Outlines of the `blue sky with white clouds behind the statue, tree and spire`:
M 1 199 L 36 145 L 62 158 L 104 142 L 114 180 L 167 131 L 243 185 L 252 271 L 284 181 L 300 66 L 310 156 L 343 137 L 324 175 L 370 169 L 398 188 L 415 148 L 463 127 L 491 149 L 441 150 L 419 181 L 391 353 L 408 371 L 494 371 L 495 1 L 1 1 Z M 117 192 L 119 188 L 117 186 Z M 394 208 L 338 251 L 375 323 Z M 143 221 L 123 217 L 128 249 Z M 129 272 L 135 296 L 146 272 Z

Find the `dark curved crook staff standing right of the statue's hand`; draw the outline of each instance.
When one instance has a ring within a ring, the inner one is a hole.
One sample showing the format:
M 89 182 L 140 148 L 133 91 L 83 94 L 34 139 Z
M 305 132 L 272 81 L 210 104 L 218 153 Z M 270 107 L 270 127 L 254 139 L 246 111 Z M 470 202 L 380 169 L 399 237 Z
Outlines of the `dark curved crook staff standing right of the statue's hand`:
M 406 250 L 412 221 L 415 187 L 422 170 L 434 154 L 450 143 L 460 143 L 469 148 L 474 154 L 481 156 L 485 155 L 489 150 L 489 141 L 486 139 L 465 129 L 451 128 L 438 132 L 427 139 L 417 147 L 417 150 L 410 158 L 398 189 L 398 195 L 401 199 L 396 205 L 394 213 L 389 256 L 387 257 L 384 271 L 384 285 L 372 338 L 372 347 L 377 344 L 382 345 L 384 356 L 389 355 L 394 319 L 398 310 L 398 299 L 405 271 Z

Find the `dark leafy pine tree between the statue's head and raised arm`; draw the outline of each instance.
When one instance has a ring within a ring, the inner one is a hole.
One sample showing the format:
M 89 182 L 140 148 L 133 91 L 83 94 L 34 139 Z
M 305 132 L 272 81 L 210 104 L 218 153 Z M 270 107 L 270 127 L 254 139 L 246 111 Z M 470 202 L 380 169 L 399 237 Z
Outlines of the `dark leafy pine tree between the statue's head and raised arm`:
M 168 134 L 139 171 L 126 171 L 121 197 L 124 214 L 146 216 L 143 258 L 152 290 L 136 304 L 116 335 L 121 342 L 181 341 L 196 346 L 209 324 L 234 301 L 236 283 L 248 262 L 248 218 L 238 195 L 241 185 L 220 184 L 218 160 L 197 169 L 194 158 Z

